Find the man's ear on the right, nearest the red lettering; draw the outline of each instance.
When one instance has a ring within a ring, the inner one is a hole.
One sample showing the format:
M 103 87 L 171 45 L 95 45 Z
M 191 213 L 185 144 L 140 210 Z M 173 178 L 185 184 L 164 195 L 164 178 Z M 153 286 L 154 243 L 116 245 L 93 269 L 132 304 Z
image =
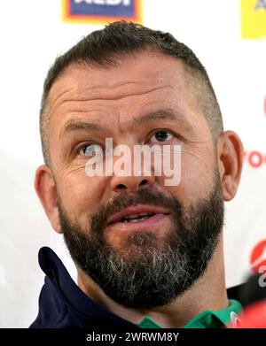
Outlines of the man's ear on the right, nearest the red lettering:
M 217 154 L 223 186 L 223 200 L 231 201 L 236 195 L 243 166 L 244 150 L 239 136 L 225 131 L 218 138 Z

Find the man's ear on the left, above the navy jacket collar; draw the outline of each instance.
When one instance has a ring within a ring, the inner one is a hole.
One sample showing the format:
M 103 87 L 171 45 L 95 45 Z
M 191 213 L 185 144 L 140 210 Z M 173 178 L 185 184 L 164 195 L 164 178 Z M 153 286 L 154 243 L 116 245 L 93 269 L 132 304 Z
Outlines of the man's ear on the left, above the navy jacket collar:
M 51 222 L 51 227 L 62 233 L 59 223 L 58 194 L 56 184 L 47 165 L 41 165 L 35 173 L 35 191 L 43 204 L 43 209 Z

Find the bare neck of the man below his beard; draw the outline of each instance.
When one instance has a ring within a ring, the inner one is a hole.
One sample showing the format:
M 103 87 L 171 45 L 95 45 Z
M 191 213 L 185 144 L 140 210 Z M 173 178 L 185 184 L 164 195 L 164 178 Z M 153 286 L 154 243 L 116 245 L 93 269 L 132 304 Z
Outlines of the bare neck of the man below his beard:
M 78 269 L 78 286 L 92 300 L 122 319 L 137 324 L 149 316 L 161 327 L 184 327 L 184 325 L 205 310 L 219 311 L 228 307 L 224 280 L 223 235 L 217 244 L 207 271 L 182 296 L 166 305 L 154 309 L 134 309 L 114 302 L 85 273 Z

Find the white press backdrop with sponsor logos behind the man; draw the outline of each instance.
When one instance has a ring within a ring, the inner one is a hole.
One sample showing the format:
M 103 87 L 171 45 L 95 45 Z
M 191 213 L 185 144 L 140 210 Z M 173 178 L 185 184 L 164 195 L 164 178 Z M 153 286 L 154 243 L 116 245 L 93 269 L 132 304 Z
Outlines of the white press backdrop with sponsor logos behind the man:
M 266 0 L 12 0 L 2 1 L 0 12 L 0 327 L 35 319 L 41 246 L 51 246 L 75 280 L 33 188 L 43 163 L 38 111 L 54 58 L 108 20 L 169 31 L 206 65 L 225 129 L 237 131 L 245 146 L 239 192 L 226 204 L 227 286 L 266 265 Z

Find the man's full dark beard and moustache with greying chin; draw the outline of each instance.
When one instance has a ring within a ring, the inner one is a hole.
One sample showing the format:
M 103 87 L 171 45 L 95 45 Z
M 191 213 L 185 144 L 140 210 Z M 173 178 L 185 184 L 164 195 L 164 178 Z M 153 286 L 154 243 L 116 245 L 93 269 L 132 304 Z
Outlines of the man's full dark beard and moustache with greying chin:
M 105 242 L 104 225 L 109 212 L 92 217 L 90 232 L 67 219 L 59 204 L 61 227 L 67 248 L 84 273 L 115 302 L 135 308 L 169 304 L 192 288 L 212 258 L 223 227 L 223 198 L 220 181 L 206 200 L 184 211 L 176 201 L 147 190 L 137 198 L 119 196 L 113 205 L 163 205 L 172 211 L 174 227 L 159 244 L 153 233 L 129 235 L 121 251 Z M 153 200 L 153 203 L 151 201 Z M 155 202 L 156 201 L 156 202 Z M 107 212 L 108 211 L 108 212 Z M 94 222 L 95 221 L 95 222 Z M 175 226 L 176 225 L 176 226 Z

